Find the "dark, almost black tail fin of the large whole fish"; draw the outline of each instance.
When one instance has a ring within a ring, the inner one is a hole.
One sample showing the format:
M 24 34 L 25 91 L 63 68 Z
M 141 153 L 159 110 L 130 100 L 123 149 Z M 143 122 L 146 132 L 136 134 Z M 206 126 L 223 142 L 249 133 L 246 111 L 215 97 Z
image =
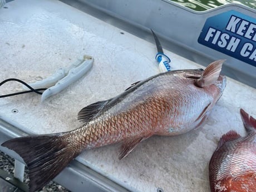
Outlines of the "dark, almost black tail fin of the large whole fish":
M 77 152 L 62 137 L 63 134 L 18 137 L 2 144 L 27 164 L 29 192 L 41 189 L 76 157 Z

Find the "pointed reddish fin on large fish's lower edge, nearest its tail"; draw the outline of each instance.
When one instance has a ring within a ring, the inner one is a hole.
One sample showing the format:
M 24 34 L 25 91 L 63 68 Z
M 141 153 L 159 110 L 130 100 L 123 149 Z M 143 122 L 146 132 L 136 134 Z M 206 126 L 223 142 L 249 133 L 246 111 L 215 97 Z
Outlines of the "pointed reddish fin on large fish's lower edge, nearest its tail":
M 140 141 L 147 139 L 148 137 L 136 137 L 134 139 L 126 140 L 120 150 L 119 159 L 126 157 L 134 148 L 139 144 Z

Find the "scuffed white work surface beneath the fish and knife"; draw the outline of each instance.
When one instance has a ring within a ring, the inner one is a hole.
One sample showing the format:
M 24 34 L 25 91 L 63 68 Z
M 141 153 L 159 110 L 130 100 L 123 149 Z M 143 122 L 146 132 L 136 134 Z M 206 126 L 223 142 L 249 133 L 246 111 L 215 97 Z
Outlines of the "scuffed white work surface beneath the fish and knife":
M 84 54 L 95 58 L 87 75 L 42 103 L 35 93 L 0 99 L 0 118 L 23 131 L 49 134 L 76 129 L 82 107 L 159 73 L 154 44 L 64 3 L 13 1 L 7 7 L 0 9 L 0 81 L 34 82 Z M 165 53 L 175 70 L 200 67 Z M 16 82 L 0 87 L 1 95 L 17 91 L 21 85 Z M 77 160 L 131 191 L 210 191 L 208 163 L 220 136 L 231 129 L 244 135 L 239 109 L 255 117 L 255 106 L 256 90 L 228 78 L 204 127 L 175 137 L 151 137 L 121 161 L 119 145 L 85 151 Z

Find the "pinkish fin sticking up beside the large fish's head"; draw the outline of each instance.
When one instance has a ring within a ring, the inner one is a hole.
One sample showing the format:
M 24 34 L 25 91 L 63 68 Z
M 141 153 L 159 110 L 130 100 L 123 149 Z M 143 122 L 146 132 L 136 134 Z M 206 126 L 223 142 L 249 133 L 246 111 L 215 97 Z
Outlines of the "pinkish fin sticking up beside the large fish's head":
M 225 60 L 217 60 L 210 63 L 202 73 L 198 80 L 195 80 L 195 84 L 199 87 L 210 86 L 218 80 L 220 75 L 222 64 Z

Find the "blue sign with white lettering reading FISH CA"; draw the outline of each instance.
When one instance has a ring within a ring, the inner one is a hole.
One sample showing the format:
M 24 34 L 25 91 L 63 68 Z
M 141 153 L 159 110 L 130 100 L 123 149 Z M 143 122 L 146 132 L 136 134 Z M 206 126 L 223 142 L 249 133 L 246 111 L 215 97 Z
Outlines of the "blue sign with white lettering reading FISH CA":
M 255 18 L 233 10 L 209 17 L 198 42 L 256 67 Z

